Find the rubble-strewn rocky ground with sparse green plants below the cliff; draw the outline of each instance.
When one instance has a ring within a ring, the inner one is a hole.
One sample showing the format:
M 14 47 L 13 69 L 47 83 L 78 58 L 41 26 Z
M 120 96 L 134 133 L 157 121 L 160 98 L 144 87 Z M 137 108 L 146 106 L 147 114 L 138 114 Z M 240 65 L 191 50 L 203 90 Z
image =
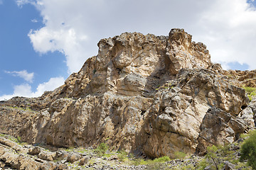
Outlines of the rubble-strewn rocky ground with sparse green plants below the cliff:
M 241 135 L 237 142 L 218 147 L 213 159 L 219 169 L 251 169 L 240 162 L 240 147 L 247 138 Z M 127 152 L 110 152 L 104 147 L 56 148 L 49 145 L 28 145 L 10 135 L 0 134 L 0 169 L 215 169 L 212 159 L 184 153 L 176 159 L 145 159 Z

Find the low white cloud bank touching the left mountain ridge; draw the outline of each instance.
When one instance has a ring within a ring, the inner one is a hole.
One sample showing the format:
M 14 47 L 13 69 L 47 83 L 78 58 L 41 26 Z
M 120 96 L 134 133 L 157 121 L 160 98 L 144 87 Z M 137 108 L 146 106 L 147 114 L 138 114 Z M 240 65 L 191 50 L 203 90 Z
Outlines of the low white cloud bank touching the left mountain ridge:
M 50 78 L 48 82 L 39 84 L 35 92 L 31 90 L 31 85 L 29 84 L 17 85 L 14 86 L 14 94 L 0 96 L 0 101 L 8 100 L 14 96 L 38 97 L 41 96 L 44 91 L 53 91 L 58 86 L 63 85 L 64 81 L 63 77 Z

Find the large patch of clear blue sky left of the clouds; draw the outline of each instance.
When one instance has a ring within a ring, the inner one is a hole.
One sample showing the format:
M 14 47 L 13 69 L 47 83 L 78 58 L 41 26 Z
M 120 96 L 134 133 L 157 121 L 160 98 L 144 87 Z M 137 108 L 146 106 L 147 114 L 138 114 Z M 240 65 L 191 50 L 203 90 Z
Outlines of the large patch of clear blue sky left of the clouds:
M 49 81 L 51 77 L 68 77 L 62 53 L 41 55 L 33 50 L 28 33 L 31 29 L 43 27 L 43 18 L 35 6 L 26 4 L 21 8 L 16 1 L 4 0 L 0 5 L 0 16 L 0 96 L 13 94 L 18 85 L 28 84 L 32 91 L 36 91 L 38 84 Z M 23 77 L 18 76 L 17 72 L 22 71 L 33 73 L 32 79 L 23 78 L 26 72 L 23 72 Z

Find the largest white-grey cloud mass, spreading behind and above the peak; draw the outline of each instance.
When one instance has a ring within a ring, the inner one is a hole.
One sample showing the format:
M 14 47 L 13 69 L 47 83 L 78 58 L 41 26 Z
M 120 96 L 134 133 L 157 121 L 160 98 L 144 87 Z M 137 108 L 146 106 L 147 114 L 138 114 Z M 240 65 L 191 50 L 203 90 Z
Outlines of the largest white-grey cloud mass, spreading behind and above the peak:
M 184 28 L 204 42 L 213 62 L 256 65 L 256 11 L 246 0 L 18 0 L 34 4 L 45 26 L 28 36 L 36 51 L 63 52 L 69 72 L 97 55 L 101 38 L 123 32 L 168 35 Z

